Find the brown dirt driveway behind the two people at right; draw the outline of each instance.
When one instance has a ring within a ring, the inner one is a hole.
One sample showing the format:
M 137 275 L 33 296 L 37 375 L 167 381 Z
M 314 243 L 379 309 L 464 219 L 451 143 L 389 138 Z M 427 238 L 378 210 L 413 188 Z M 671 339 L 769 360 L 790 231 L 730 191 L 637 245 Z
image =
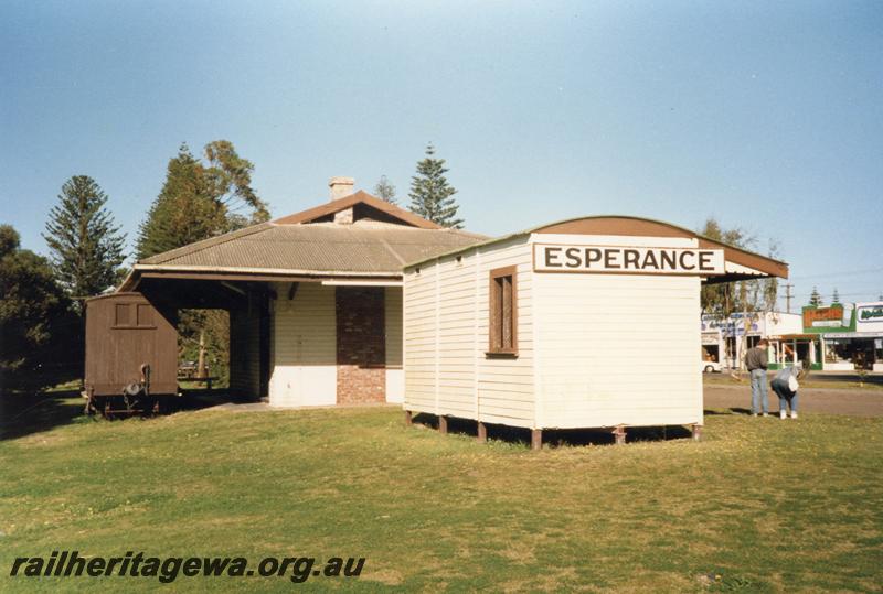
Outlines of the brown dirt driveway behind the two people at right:
M 704 386 L 705 409 L 740 409 L 752 406 L 749 386 Z M 883 417 L 883 390 L 801 388 L 799 412 L 825 412 L 848 417 Z M 769 410 L 778 412 L 779 399 L 769 391 Z

